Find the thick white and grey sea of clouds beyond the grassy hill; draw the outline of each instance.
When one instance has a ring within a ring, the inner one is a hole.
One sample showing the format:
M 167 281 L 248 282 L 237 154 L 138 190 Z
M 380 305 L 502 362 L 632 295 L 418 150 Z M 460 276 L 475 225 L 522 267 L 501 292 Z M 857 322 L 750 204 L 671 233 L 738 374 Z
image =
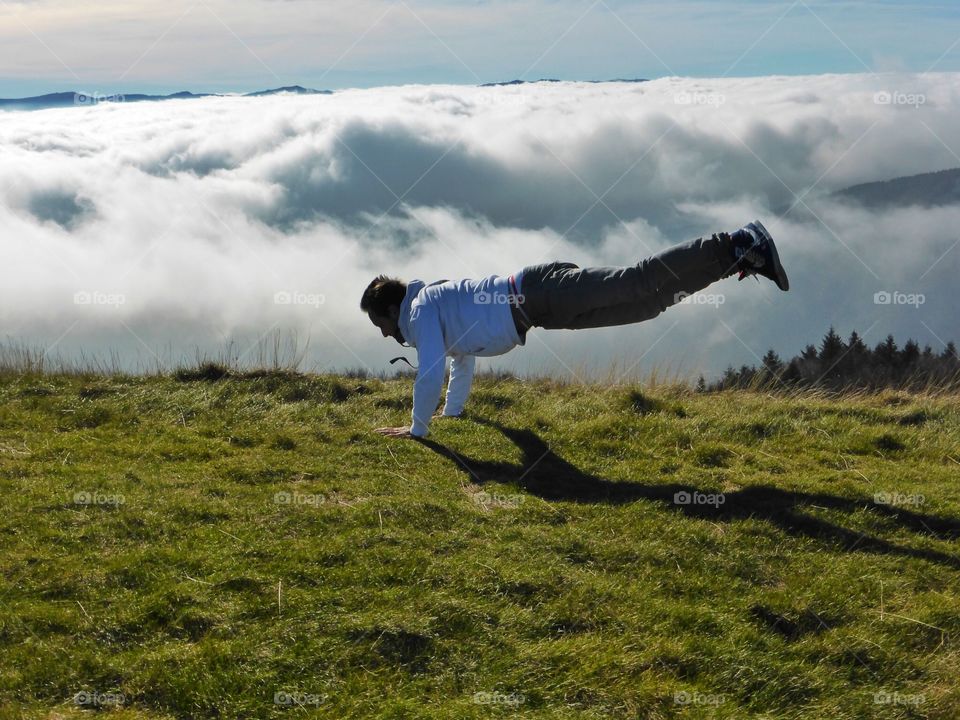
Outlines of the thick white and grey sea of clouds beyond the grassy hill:
M 940 350 L 960 340 L 960 207 L 831 193 L 960 167 L 958 95 L 957 74 L 666 78 L 0 113 L 0 332 L 134 369 L 253 362 L 281 333 L 305 369 L 389 370 L 401 349 L 358 309 L 377 273 L 633 264 L 761 218 L 789 293 L 728 279 L 482 366 L 710 375 L 831 324 Z

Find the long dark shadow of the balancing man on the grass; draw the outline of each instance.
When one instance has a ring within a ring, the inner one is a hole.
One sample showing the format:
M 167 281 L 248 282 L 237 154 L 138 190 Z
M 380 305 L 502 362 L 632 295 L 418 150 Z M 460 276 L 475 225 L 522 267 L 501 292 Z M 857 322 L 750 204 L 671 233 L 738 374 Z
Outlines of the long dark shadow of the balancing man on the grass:
M 960 557 L 938 550 L 894 545 L 882 538 L 848 530 L 813 517 L 803 511 L 803 506 L 817 506 L 850 514 L 868 509 L 886 515 L 890 521 L 916 533 L 932 535 L 940 540 L 960 538 L 960 520 L 954 518 L 927 515 L 891 505 L 880 505 L 867 499 L 850 500 L 824 493 L 782 490 L 768 485 L 752 485 L 742 490 L 724 493 L 724 502 L 719 505 L 682 504 L 675 499 L 678 493 L 693 496 L 694 493 L 702 493 L 702 491 L 682 483 L 650 485 L 635 481 L 606 480 L 579 470 L 554 453 L 531 430 L 510 428 L 494 420 L 475 415 L 470 419 L 496 428 L 506 435 L 523 453 L 520 462 L 481 460 L 456 452 L 429 438 L 421 438 L 419 441 L 434 452 L 452 460 L 469 473 L 478 484 L 487 482 L 515 484 L 544 500 L 612 505 L 635 500 L 652 500 L 689 517 L 708 520 L 762 518 L 789 535 L 841 543 L 848 552 L 858 550 L 902 555 L 960 569 Z

